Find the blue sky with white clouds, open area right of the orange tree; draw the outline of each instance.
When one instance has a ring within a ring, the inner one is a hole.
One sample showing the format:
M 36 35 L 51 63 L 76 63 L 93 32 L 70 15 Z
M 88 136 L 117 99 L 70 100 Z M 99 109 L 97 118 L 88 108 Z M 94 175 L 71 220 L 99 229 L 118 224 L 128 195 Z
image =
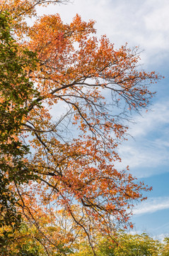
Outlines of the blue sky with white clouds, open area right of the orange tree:
M 97 36 L 107 35 L 115 48 L 128 43 L 139 46 L 141 67 L 155 70 L 165 79 L 153 85 L 156 91 L 148 112 L 134 115 L 128 138 L 120 148 L 122 166 L 139 181 L 153 186 L 148 199 L 134 208 L 132 221 L 136 233 L 154 238 L 169 236 L 169 1 L 168 0 L 74 0 L 57 4 L 39 14 L 57 14 L 66 23 L 79 14 L 95 20 Z

